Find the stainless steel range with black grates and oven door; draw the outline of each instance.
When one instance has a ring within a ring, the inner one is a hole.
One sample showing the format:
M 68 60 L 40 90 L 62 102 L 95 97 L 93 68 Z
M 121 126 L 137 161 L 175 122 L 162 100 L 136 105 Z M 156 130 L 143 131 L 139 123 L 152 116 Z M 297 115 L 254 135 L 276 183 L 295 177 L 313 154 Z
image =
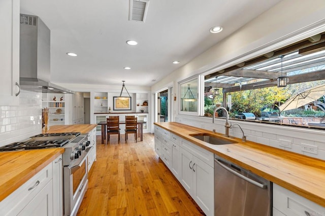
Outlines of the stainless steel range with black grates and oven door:
M 44 133 L 30 137 L 23 142 L 14 142 L 0 147 L 1 151 L 22 151 L 30 149 L 64 148 L 63 165 L 63 211 L 64 216 L 76 215 L 88 188 L 87 156 L 89 147 L 87 134 Z

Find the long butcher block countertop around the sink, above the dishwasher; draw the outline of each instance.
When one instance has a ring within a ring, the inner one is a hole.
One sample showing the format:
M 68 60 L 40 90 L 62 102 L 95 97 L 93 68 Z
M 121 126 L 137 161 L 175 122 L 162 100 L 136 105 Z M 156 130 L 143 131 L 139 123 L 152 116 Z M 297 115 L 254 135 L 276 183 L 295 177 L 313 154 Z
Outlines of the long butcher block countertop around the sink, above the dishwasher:
M 211 145 L 189 134 L 212 131 L 176 122 L 154 123 L 216 155 L 325 207 L 325 161 L 230 137 L 237 143 Z M 223 134 L 214 133 L 224 137 Z

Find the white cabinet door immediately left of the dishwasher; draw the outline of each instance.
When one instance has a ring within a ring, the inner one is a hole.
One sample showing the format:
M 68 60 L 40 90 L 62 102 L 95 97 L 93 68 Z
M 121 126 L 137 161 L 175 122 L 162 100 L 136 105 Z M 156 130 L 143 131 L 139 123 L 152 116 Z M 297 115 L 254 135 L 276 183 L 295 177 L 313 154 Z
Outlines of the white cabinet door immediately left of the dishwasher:
M 193 198 L 207 215 L 214 215 L 214 169 L 193 157 Z

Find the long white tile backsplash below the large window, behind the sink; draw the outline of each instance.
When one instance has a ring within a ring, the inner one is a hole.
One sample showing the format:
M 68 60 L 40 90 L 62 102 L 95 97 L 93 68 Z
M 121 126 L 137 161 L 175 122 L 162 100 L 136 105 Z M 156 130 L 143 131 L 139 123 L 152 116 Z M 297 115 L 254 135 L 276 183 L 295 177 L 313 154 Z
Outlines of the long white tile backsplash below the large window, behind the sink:
M 211 118 L 207 117 L 192 117 L 178 115 L 175 118 L 176 122 L 188 124 L 194 127 L 197 125 L 201 128 L 211 130 L 216 129 L 216 132 L 224 134 L 224 119 L 216 119 L 212 123 Z M 231 122 L 235 122 L 231 120 Z M 313 158 L 325 160 L 325 131 L 313 130 L 289 126 L 276 126 L 271 124 L 251 123 L 237 121 L 243 128 L 247 140 L 261 143 L 262 145 L 271 146 L 278 149 L 283 149 L 289 152 L 295 152 L 301 155 L 306 155 Z M 238 138 L 242 137 L 239 128 L 231 128 L 229 130 L 231 136 Z M 280 146 L 280 139 L 291 142 L 291 148 Z M 301 150 L 301 143 L 307 143 L 318 147 L 318 154 L 305 153 Z

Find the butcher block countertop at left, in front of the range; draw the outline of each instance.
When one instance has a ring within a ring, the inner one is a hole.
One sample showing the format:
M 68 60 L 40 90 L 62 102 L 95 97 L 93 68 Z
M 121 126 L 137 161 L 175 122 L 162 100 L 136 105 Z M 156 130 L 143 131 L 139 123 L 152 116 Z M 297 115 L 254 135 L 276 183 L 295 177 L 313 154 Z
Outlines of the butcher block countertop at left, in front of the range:
M 0 152 L 0 201 L 63 152 L 61 148 Z

